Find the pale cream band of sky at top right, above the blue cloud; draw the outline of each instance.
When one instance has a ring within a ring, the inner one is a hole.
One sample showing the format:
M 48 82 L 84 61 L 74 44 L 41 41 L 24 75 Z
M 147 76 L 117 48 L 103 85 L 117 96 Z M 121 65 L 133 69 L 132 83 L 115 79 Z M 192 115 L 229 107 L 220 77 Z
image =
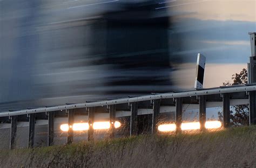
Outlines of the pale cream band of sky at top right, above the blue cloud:
M 184 12 L 184 15 L 181 17 L 198 18 L 201 20 L 237 20 L 255 22 L 255 0 L 177 0 L 173 3 L 180 4 L 173 9 L 179 12 Z M 188 4 L 185 5 L 186 3 Z

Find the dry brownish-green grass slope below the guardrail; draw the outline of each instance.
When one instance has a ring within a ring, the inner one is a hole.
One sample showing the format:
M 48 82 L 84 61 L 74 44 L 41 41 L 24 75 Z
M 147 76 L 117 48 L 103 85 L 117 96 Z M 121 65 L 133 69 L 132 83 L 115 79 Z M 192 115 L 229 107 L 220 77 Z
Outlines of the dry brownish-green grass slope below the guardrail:
M 0 167 L 255 167 L 256 127 L 2 150 Z

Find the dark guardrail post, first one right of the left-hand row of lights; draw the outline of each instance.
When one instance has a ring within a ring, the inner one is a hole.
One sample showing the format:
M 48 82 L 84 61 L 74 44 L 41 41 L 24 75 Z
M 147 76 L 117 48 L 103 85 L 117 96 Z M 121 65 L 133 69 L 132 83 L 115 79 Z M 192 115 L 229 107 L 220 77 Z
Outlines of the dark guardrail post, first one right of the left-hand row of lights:
M 138 102 L 131 103 L 130 136 L 138 134 Z

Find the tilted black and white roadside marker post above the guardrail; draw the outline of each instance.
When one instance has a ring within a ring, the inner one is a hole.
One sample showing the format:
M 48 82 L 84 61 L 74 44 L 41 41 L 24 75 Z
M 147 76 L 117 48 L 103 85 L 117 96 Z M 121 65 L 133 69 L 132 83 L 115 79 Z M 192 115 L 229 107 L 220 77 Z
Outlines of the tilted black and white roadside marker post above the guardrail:
M 205 73 L 205 57 L 203 54 L 197 54 L 197 72 L 196 80 L 194 82 L 194 88 L 202 89 L 204 83 L 204 73 Z

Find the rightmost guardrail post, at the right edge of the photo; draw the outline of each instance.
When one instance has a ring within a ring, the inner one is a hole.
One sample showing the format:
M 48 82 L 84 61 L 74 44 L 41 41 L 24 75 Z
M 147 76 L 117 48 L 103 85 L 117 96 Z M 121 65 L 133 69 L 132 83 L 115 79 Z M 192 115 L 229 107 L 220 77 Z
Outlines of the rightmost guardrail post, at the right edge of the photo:
M 256 124 L 256 110 L 255 110 L 255 91 L 249 92 L 249 122 L 250 125 Z

